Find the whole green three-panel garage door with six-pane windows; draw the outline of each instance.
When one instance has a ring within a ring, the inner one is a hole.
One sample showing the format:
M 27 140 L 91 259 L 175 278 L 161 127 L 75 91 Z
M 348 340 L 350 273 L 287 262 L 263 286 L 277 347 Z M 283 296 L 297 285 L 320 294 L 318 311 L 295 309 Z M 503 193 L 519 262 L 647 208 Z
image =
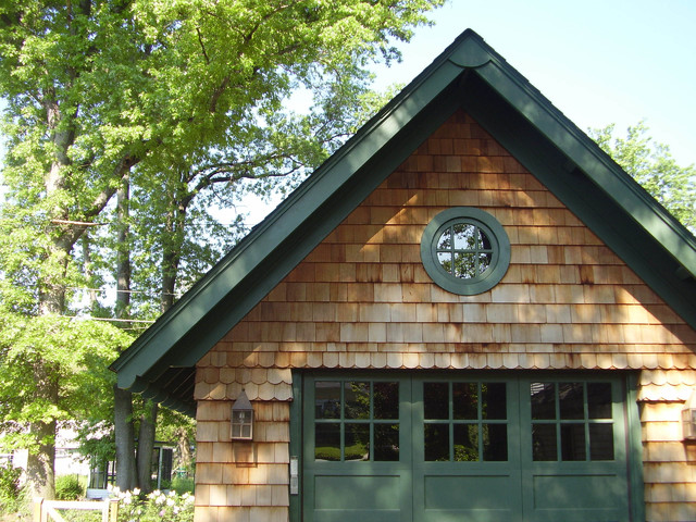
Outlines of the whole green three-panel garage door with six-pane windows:
M 365 373 L 302 383 L 303 521 L 630 520 L 622 378 Z

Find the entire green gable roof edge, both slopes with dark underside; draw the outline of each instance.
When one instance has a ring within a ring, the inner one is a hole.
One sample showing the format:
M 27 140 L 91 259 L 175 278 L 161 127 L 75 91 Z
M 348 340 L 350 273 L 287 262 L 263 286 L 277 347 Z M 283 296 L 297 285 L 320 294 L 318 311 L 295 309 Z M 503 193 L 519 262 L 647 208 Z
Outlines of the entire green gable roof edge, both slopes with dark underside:
M 111 365 L 119 386 L 192 414 L 196 362 L 458 109 L 696 328 L 694 236 L 468 29 Z

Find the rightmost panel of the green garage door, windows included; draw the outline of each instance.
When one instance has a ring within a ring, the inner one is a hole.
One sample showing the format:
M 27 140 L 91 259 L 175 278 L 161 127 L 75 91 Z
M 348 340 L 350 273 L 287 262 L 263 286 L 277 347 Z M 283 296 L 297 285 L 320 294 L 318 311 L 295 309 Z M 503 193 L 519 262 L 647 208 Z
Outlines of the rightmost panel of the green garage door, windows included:
M 629 520 L 624 396 L 608 376 L 520 380 L 524 520 Z

